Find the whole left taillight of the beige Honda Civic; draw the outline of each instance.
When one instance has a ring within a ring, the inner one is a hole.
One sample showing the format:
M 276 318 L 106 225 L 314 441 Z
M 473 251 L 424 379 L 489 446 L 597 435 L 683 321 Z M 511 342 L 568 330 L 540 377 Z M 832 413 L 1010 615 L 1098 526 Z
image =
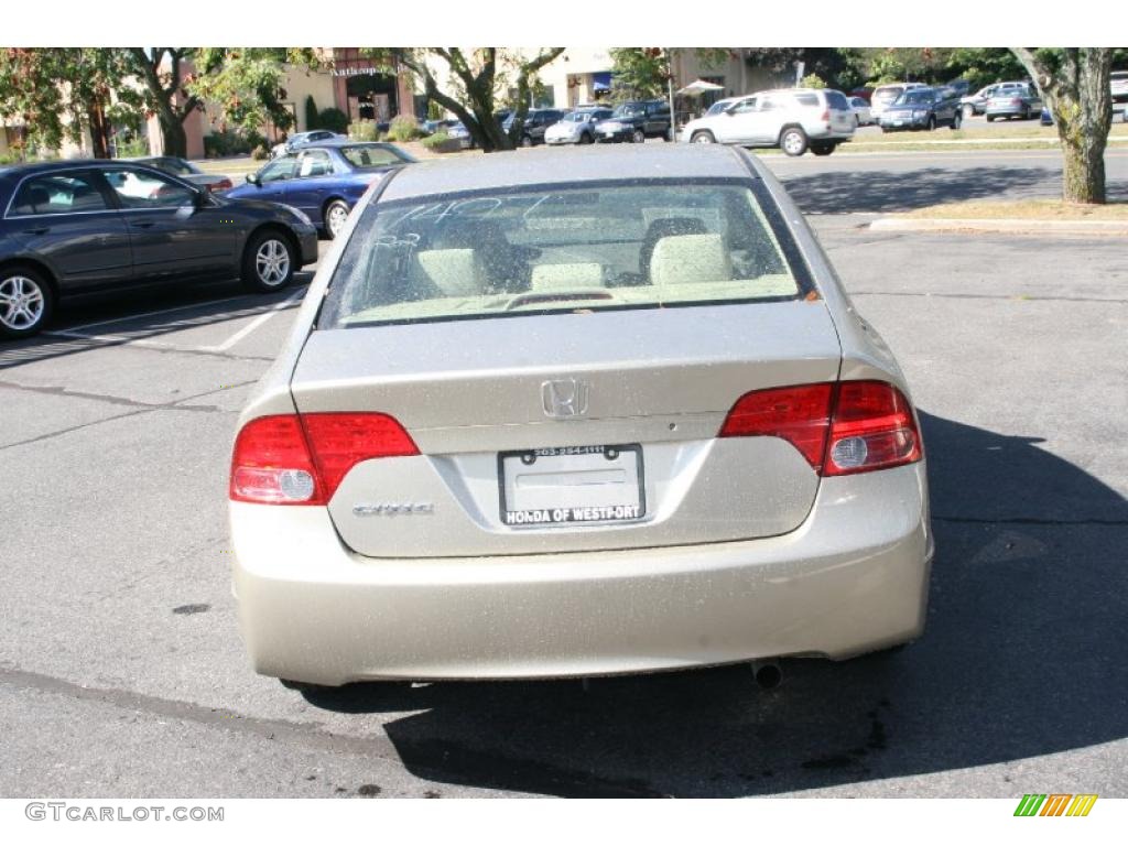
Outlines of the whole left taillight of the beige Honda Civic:
M 355 465 L 418 455 L 387 414 L 280 414 L 247 423 L 235 440 L 229 496 L 236 502 L 324 505 Z

